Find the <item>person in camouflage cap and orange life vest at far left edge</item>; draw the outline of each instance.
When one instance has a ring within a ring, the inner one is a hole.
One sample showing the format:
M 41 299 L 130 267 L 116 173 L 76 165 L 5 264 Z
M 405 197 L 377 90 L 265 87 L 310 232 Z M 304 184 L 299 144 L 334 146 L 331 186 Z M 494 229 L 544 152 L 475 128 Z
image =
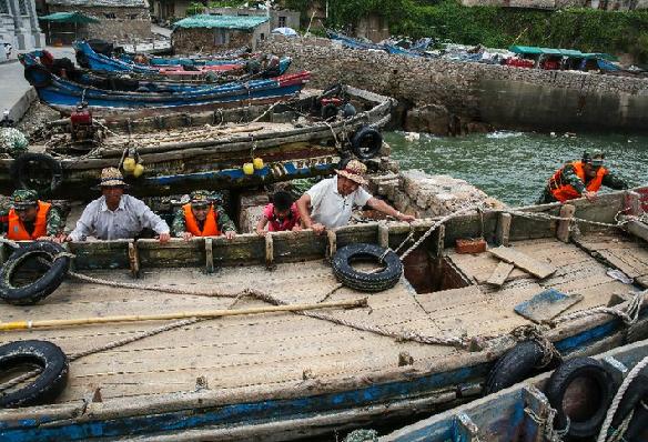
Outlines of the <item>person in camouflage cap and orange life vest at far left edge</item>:
M 33 190 L 13 192 L 9 211 L 0 211 L 6 237 L 12 241 L 48 240 L 62 242 L 63 221 L 52 204 L 40 201 Z

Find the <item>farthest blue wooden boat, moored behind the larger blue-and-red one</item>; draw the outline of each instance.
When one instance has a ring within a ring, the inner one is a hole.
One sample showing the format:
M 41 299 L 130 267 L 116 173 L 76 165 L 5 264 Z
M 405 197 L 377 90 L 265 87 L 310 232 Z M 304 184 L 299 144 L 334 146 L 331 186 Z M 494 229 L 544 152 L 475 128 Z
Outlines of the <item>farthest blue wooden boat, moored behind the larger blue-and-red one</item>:
M 113 58 L 103 53 L 98 53 L 92 49 L 87 41 L 75 41 L 73 43 L 75 58 L 79 66 L 91 69 L 98 72 L 135 72 L 146 74 L 174 74 L 185 72 L 183 67 L 194 68 L 192 71 L 201 71 L 206 73 L 209 71 L 230 71 L 243 69 L 245 59 L 231 60 L 210 60 L 210 61 L 192 61 L 186 59 L 179 59 L 176 64 L 171 62 L 163 63 L 164 59 L 154 58 L 155 63 L 150 64 L 138 63 L 133 57 Z

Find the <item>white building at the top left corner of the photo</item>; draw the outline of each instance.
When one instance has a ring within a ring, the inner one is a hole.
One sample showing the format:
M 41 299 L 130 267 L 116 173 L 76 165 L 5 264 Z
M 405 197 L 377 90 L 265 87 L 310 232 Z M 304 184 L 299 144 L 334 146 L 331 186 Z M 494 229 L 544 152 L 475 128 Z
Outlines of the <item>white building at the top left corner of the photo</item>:
M 3 43 L 30 50 L 45 44 L 38 22 L 34 0 L 0 0 L 0 51 Z M 4 56 L 4 53 L 0 53 Z M 3 59 L 3 57 L 0 57 Z

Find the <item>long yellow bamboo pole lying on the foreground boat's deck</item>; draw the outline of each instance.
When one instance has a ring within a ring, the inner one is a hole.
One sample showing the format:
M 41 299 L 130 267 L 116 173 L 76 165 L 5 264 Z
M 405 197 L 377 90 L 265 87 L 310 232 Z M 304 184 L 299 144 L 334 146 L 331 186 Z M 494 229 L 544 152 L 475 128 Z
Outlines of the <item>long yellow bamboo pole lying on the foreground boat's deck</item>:
M 243 314 L 260 314 L 260 313 L 277 313 L 277 312 L 295 312 L 305 310 L 320 310 L 332 308 L 354 309 L 358 307 L 366 307 L 367 299 L 361 298 L 351 301 L 337 302 L 322 302 L 318 304 L 292 304 L 292 305 L 275 305 L 275 307 L 256 307 L 241 310 L 207 310 L 198 312 L 175 312 L 164 314 L 138 314 L 124 317 L 94 317 L 81 319 L 54 319 L 43 321 L 14 321 L 0 323 L 0 331 L 12 330 L 28 330 L 41 328 L 59 328 L 71 325 L 87 325 L 87 324 L 102 324 L 107 322 L 139 322 L 139 321 L 163 321 L 170 319 L 185 319 L 185 318 L 224 318 L 237 317 Z

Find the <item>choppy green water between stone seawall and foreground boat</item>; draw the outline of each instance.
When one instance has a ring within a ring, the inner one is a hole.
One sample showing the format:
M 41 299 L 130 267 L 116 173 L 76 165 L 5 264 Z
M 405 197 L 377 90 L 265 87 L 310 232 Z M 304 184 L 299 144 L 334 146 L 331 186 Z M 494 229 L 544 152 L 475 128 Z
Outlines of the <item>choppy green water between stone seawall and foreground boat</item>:
M 512 205 L 535 202 L 554 171 L 590 149 L 603 149 L 607 165 L 631 185 L 648 183 L 648 137 L 494 132 L 455 138 L 422 133 L 412 140 L 412 135 L 417 134 L 385 133 L 402 169 L 460 178 Z

